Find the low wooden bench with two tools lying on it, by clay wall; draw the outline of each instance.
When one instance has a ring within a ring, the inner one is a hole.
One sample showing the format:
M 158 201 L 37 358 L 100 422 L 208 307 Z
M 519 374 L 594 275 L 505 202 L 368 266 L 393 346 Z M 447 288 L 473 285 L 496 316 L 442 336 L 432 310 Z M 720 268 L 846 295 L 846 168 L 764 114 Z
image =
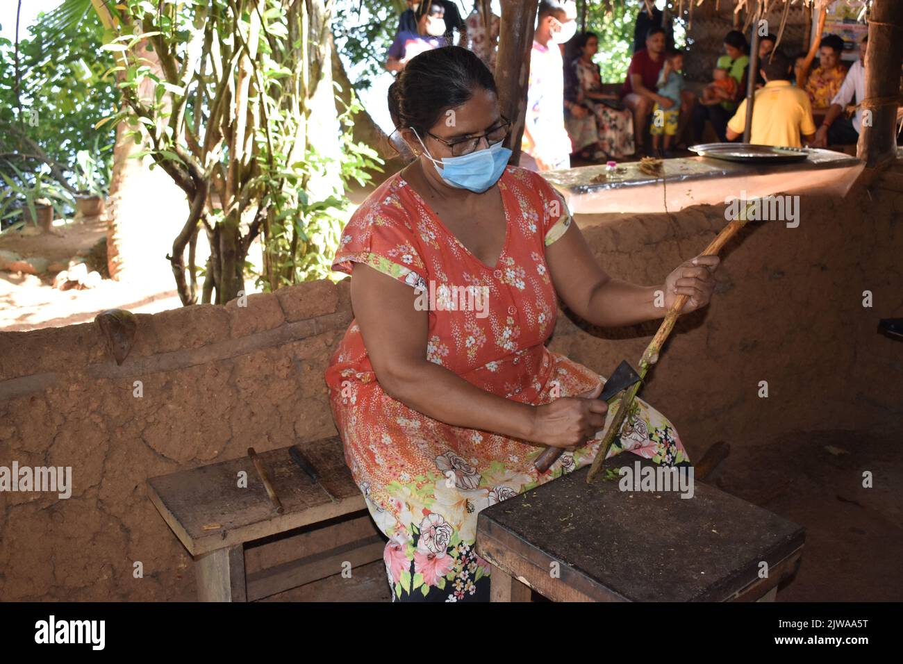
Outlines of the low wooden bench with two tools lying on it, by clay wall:
M 247 457 L 173 472 L 147 481 L 148 494 L 172 532 L 194 558 L 201 602 L 247 602 L 338 574 L 343 566 L 366 565 L 383 556 L 386 538 L 373 534 L 310 556 L 245 574 L 245 545 L 296 528 L 360 513 L 364 497 L 345 465 L 338 436 L 298 446 L 321 475 L 332 502 L 293 463 L 284 447 L 258 452 L 284 512 L 277 514 L 254 463 Z M 247 472 L 247 488 L 238 473 Z

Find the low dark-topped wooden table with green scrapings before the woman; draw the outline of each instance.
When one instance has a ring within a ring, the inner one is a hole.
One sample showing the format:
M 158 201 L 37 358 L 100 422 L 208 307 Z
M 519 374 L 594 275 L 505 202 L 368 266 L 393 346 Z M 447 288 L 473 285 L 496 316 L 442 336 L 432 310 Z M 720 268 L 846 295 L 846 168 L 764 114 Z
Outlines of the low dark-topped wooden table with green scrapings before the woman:
M 638 460 L 622 453 L 604 467 Z M 769 601 L 796 574 L 805 530 L 787 519 L 703 482 L 682 499 L 620 491 L 604 472 L 587 484 L 588 472 L 480 511 L 476 548 L 493 565 L 493 601 L 528 602 L 531 588 L 556 602 Z

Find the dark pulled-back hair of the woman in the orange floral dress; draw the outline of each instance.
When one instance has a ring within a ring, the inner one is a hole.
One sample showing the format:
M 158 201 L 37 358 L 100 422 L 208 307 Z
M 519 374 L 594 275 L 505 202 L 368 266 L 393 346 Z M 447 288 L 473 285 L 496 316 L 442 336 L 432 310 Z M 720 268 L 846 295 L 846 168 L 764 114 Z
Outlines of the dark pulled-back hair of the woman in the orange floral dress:
M 443 46 L 414 56 L 389 86 L 389 116 L 398 129 L 413 126 L 423 138 L 448 108 L 467 102 L 478 89 L 498 94 L 492 72 L 461 46 Z

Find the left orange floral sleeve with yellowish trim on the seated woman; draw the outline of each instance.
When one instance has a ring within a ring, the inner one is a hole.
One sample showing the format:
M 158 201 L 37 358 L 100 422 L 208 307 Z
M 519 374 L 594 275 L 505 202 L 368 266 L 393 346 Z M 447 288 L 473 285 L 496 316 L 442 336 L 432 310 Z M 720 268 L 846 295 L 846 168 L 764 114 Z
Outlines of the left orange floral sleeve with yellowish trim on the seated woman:
M 409 215 L 396 197 L 365 201 L 351 215 L 332 269 L 350 275 L 352 263 L 364 263 L 414 289 L 426 287 L 426 264 Z

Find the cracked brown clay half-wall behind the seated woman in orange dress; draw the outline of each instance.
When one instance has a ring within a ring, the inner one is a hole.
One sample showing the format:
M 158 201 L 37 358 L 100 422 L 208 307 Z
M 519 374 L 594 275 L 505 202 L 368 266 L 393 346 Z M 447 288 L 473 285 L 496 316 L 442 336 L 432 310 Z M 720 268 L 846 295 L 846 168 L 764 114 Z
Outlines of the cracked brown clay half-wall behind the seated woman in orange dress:
M 691 457 L 716 440 L 898 424 L 903 345 L 875 332 L 903 315 L 893 186 L 804 197 L 799 228 L 760 223 L 729 245 L 712 306 L 679 323 L 641 393 Z M 578 222 L 612 276 L 653 284 L 702 250 L 724 211 Z M 0 600 L 191 600 L 191 557 L 145 480 L 335 433 L 322 376 L 351 320 L 347 280 L 137 319 L 119 367 L 93 323 L 0 333 L 0 466 L 72 466 L 74 484 L 67 500 L 0 492 Z M 550 348 L 607 374 L 635 363 L 656 325 L 584 328 L 560 313 Z

